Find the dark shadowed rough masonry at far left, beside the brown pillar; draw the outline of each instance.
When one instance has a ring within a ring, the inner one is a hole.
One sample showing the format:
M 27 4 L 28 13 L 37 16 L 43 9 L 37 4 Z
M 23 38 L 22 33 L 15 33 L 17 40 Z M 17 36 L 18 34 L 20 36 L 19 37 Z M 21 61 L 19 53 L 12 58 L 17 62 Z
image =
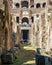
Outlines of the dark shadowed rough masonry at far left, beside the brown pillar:
M 4 15 L 3 10 L 0 9 L 0 48 L 2 48 L 2 52 L 5 50 L 5 21 L 4 21 Z

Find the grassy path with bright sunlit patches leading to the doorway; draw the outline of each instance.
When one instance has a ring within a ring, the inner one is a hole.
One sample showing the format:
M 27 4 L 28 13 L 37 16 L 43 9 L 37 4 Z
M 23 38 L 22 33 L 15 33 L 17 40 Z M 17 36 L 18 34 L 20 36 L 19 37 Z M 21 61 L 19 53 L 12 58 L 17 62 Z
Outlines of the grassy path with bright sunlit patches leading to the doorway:
M 21 45 L 21 49 L 17 54 L 17 59 L 10 65 L 35 65 L 35 47 Z

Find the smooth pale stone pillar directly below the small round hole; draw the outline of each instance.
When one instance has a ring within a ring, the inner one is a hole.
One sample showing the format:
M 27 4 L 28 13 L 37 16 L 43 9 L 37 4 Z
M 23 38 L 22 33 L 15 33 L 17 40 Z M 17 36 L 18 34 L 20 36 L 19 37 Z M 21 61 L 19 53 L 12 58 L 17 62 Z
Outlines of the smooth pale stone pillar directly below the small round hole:
M 37 20 L 37 41 L 38 41 L 38 47 L 42 47 L 42 27 L 41 27 L 41 19 L 39 18 Z

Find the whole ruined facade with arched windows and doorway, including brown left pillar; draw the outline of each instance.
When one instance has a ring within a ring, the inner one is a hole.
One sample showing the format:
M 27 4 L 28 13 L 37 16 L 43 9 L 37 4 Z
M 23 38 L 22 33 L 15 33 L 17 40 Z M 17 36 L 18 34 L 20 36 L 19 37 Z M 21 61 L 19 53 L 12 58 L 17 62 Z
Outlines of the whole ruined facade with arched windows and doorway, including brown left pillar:
M 4 0 L 4 5 L 8 50 L 20 42 L 52 48 L 52 0 Z

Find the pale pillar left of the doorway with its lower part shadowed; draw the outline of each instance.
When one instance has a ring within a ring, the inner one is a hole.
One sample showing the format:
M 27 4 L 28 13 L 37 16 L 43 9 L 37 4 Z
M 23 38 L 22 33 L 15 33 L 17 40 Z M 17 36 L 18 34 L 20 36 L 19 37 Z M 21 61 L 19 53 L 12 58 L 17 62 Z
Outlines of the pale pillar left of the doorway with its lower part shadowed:
M 13 37 L 13 42 L 14 42 L 14 45 L 16 44 L 16 33 L 17 33 L 17 23 L 16 23 L 16 16 L 13 15 L 12 17 L 12 37 Z

